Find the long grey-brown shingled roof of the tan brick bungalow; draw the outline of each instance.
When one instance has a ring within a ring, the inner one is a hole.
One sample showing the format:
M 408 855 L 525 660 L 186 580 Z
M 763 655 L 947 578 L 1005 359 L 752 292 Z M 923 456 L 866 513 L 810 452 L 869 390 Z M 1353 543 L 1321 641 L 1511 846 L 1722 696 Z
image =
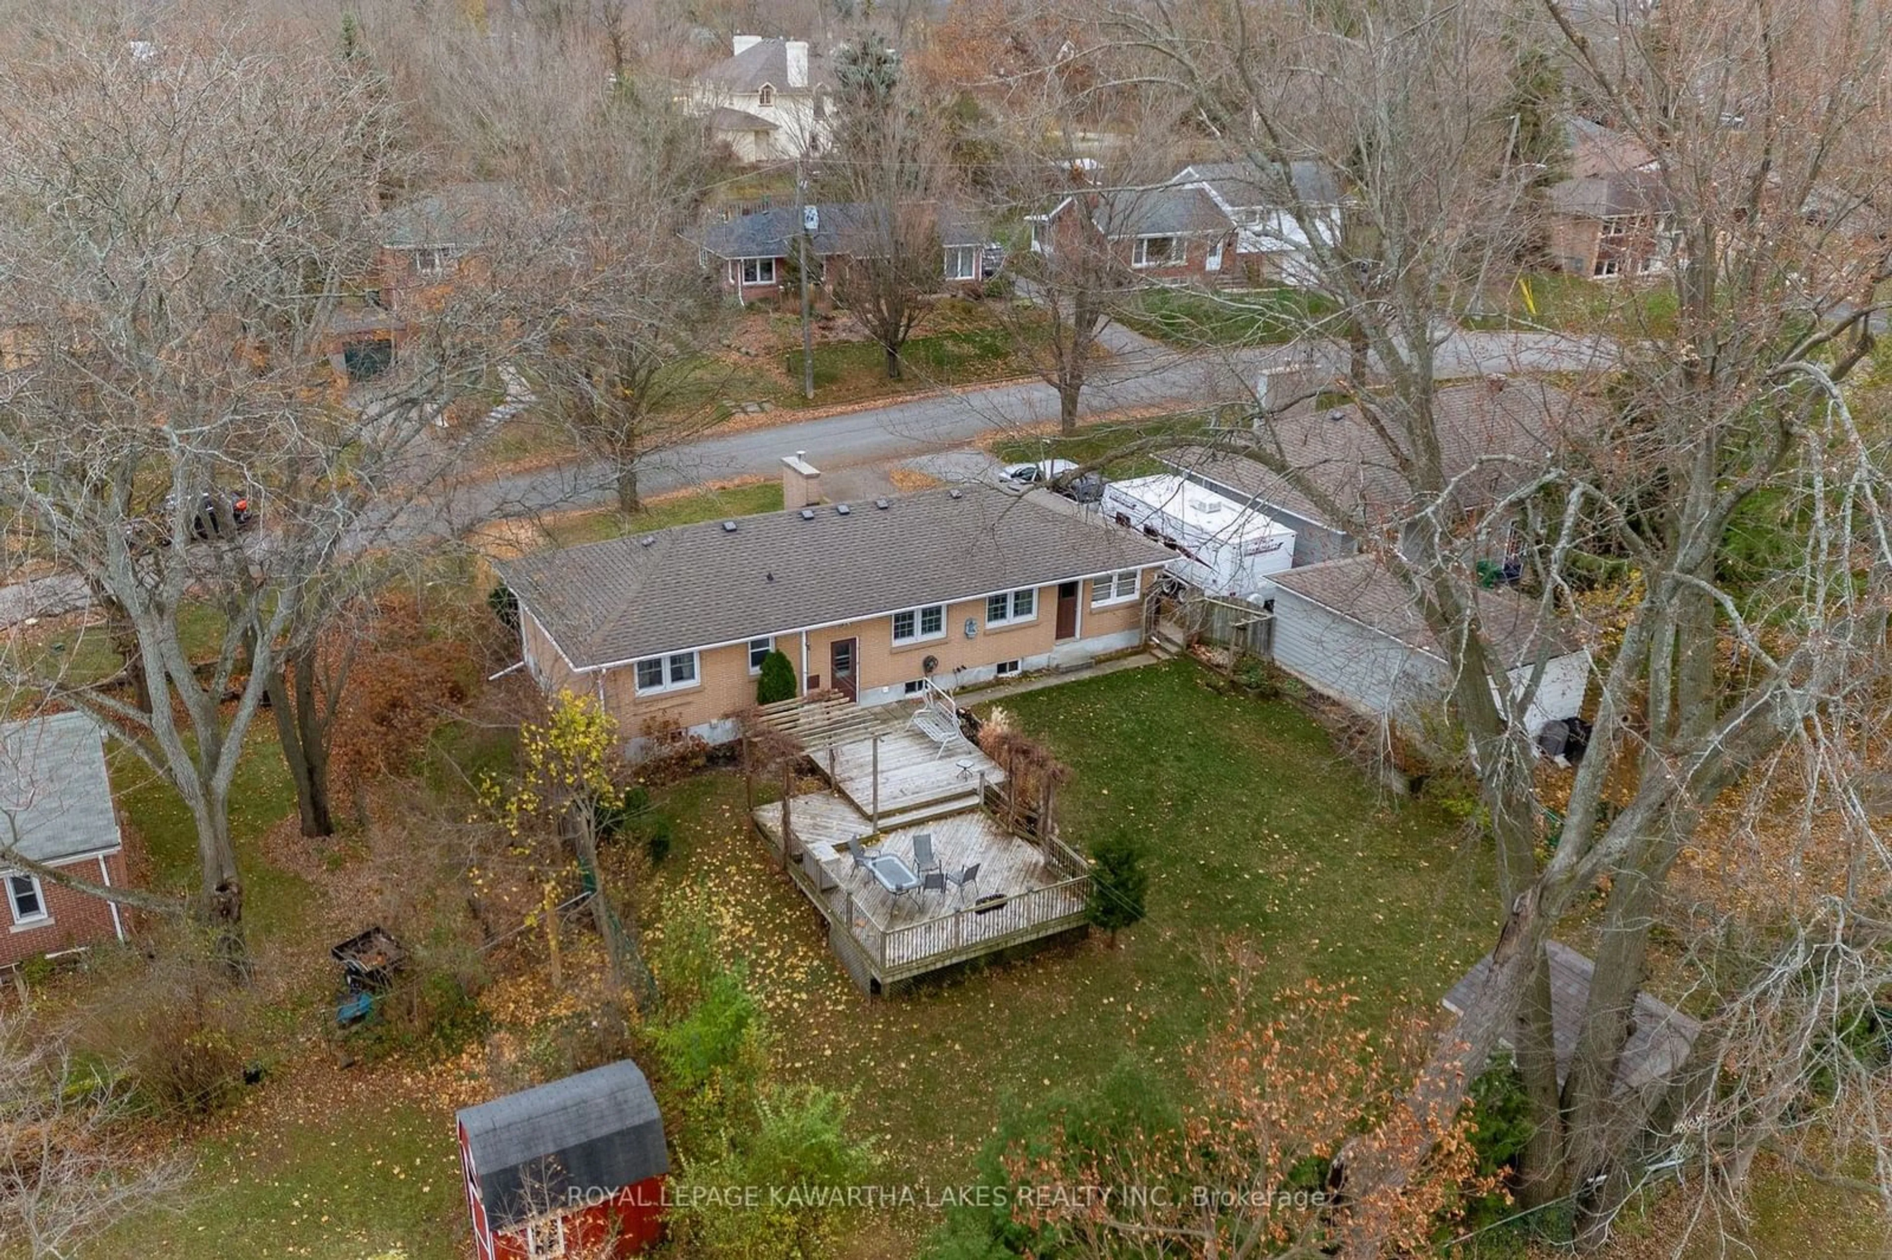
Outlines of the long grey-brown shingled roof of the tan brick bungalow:
M 1046 492 L 923 490 L 887 499 L 736 518 L 522 556 L 499 566 L 520 604 L 577 668 L 740 643 L 1154 568 L 1169 551 L 1063 513 Z

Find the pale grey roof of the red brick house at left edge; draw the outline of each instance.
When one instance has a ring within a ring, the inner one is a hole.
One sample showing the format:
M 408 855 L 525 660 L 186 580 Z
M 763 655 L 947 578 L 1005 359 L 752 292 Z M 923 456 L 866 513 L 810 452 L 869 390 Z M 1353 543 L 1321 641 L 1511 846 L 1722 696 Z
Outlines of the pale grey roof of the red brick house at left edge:
M 119 842 L 98 723 L 53 713 L 0 725 L 0 846 L 57 863 Z

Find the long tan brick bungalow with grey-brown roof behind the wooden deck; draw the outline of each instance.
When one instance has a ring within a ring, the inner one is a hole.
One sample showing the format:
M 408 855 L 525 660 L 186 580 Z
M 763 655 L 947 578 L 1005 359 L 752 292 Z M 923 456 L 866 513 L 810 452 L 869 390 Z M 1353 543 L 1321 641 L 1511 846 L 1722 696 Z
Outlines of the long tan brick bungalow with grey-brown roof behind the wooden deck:
M 795 499 L 789 499 L 795 501 Z M 568 547 L 501 564 L 524 664 L 626 738 L 736 734 L 762 658 L 859 704 L 1078 666 L 1143 643 L 1171 554 L 1044 490 L 923 490 Z

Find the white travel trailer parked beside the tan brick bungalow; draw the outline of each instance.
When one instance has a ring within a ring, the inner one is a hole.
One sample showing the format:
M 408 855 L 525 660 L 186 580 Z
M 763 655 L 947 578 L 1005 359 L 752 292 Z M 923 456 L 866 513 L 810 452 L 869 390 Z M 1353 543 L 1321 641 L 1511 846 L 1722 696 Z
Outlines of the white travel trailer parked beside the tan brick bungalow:
M 1294 530 L 1173 473 L 1112 481 L 1103 515 L 1177 552 L 1169 571 L 1217 596 L 1268 600 L 1294 564 Z

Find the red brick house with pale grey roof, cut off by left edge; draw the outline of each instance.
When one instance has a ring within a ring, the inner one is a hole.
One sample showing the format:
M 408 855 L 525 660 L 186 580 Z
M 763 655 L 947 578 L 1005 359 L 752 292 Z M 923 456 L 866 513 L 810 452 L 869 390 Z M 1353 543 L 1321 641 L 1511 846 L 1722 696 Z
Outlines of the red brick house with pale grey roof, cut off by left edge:
M 91 717 L 53 713 L 0 725 L 0 967 L 125 940 L 117 904 L 8 865 L 8 853 L 17 853 L 89 884 L 127 884 L 104 732 Z

